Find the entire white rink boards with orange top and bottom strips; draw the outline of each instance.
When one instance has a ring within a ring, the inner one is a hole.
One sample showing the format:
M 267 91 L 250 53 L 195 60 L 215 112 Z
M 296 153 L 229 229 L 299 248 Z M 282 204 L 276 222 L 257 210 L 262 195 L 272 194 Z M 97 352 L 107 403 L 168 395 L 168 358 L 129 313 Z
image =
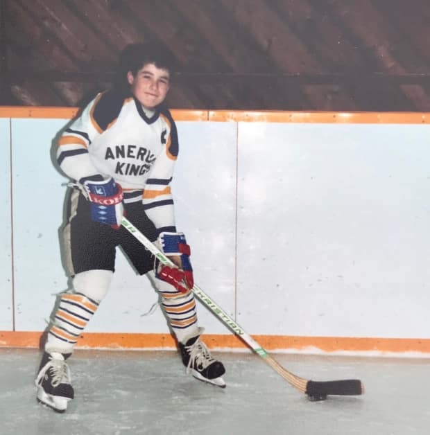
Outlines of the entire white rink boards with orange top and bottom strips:
M 67 289 L 67 178 L 55 137 L 76 113 L 0 110 L 0 346 L 34 346 Z M 429 114 L 174 111 L 173 195 L 195 278 L 268 348 L 430 353 Z M 157 294 L 121 254 L 80 343 L 169 347 Z M 236 347 L 203 306 L 212 345 Z M 85 335 L 84 335 L 85 336 Z

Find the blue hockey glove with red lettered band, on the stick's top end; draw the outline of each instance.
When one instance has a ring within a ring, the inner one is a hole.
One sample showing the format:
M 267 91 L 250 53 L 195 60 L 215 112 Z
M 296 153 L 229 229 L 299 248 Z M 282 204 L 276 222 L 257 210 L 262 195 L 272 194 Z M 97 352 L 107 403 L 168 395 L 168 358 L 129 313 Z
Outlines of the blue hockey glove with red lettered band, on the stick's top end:
M 87 179 L 83 182 L 91 208 L 91 219 L 94 222 L 108 224 L 113 229 L 121 227 L 123 218 L 123 190 L 112 177 L 103 181 Z

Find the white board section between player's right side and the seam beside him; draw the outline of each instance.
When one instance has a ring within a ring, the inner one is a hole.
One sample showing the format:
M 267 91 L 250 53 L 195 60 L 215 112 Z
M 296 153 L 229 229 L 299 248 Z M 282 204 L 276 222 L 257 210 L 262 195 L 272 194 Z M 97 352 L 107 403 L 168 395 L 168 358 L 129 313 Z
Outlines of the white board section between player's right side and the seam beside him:
M 191 246 L 194 280 L 235 317 L 236 123 L 178 123 L 173 188 L 178 231 Z M 200 326 L 230 330 L 198 303 Z

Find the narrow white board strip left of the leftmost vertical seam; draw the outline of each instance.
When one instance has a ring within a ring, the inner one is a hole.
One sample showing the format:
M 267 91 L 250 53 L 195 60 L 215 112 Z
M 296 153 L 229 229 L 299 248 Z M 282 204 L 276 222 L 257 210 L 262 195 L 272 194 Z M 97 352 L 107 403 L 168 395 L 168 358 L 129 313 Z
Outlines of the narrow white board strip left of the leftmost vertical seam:
M 0 118 L 0 330 L 12 330 L 10 120 Z

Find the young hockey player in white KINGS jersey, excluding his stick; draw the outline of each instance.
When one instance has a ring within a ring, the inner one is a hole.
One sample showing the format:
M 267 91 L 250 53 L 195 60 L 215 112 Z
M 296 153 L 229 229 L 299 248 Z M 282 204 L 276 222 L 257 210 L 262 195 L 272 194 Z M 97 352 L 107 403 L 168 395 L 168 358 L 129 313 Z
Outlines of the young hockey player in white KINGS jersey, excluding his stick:
M 132 44 L 124 53 L 119 82 L 98 94 L 58 142 L 58 163 L 74 187 L 63 229 L 72 286 L 53 316 L 36 385 L 37 400 L 60 412 L 74 398 L 66 361 L 107 293 L 117 246 L 160 293 L 187 371 L 225 387 L 223 364 L 200 340 L 190 249 L 175 227 L 171 180 L 178 135 L 164 107 L 172 63 L 155 46 Z M 154 263 L 121 227 L 124 213 L 177 267 Z

